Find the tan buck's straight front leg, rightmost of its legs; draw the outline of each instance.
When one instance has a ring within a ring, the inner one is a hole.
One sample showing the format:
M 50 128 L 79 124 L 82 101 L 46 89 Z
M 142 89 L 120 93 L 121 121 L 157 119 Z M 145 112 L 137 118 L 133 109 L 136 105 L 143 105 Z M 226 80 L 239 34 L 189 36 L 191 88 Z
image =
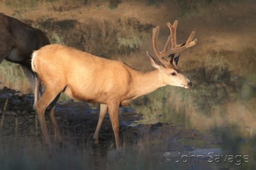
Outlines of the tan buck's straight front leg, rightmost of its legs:
M 118 118 L 118 108 L 119 104 L 109 104 L 108 105 L 108 113 L 111 120 L 111 124 L 113 127 L 113 131 L 115 134 L 115 140 L 116 140 L 116 148 L 120 149 L 122 148 L 119 138 L 119 118 Z

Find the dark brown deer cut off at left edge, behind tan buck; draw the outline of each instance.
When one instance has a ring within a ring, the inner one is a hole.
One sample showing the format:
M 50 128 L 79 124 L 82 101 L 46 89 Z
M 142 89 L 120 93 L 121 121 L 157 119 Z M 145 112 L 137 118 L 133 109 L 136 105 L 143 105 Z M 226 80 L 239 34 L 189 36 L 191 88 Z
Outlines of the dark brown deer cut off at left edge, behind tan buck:
M 35 74 L 31 69 L 31 54 L 49 44 L 49 39 L 40 29 L 0 13 L 0 63 L 6 59 L 20 64 L 33 89 Z

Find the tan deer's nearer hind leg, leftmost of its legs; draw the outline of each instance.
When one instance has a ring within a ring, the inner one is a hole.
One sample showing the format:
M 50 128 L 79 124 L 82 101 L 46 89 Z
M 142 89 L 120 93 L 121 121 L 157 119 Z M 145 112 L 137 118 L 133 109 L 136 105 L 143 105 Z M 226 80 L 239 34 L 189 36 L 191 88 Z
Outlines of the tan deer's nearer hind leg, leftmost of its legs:
M 51 140 L 49 138 L 47 125 L 45 122 L 45 110 L 46 110 L 47 106 L 49 106 L 49 104 L 51 104 L 51 102 L 56 98 L 56 96 L 58 96 L 58 94 L 60 94 L 60 92 L 62 90 L 63 90 L 63 88 L 62 89 L 55 88 L 54 90 L 46 89 L 43 96 L 39 99 L 38 103 L 36 103 L 36 111 L 38 114 L 38 120 L 41 125 L 41 130 L 44 135 L 45 143 L 47 143 L 48 145 L 51 145 Z

